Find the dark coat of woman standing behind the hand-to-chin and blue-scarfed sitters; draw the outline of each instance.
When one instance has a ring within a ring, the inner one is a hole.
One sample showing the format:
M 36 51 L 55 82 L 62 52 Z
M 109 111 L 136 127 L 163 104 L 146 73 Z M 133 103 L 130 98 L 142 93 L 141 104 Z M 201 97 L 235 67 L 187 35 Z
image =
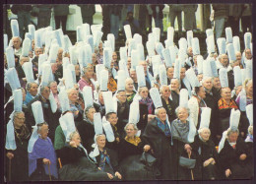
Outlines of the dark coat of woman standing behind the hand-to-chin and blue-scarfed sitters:
M 82 145 L 90 153 L 93 150 L 92 145 L 95 143 L 95 126 L 87 121 L 80 121 L 78 122 L 77 129 L 82 140 Z

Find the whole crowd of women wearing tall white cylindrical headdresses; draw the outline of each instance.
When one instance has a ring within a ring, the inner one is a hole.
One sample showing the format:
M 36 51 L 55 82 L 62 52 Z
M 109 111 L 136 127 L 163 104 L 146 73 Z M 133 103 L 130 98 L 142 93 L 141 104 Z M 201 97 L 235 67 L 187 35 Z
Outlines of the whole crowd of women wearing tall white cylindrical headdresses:
M 163 46 L 160 27 L 144 45 L 124 25 L 120 48 L 87 23 L 75 44 L 20 28 L 4 34 L 6 181 L 252 179 L 251 32 L 241 50 L 231 28 L 208 29 L 203 57 L 173 27 Z

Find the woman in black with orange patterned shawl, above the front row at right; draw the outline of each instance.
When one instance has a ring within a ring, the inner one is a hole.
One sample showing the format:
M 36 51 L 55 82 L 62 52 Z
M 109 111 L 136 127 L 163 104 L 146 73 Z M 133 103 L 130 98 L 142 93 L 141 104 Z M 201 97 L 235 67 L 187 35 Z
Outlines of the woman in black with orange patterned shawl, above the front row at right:
M 221 136 L 222 133 L 229 127 L 229 117 L 231 109 L 238 109 L 237 104 L 231 98 L 231 91 L 229 88 L 223 88 L 221 92 L 221 99 L 218 101 L 219 109 L 219 128 L 218 135 Z

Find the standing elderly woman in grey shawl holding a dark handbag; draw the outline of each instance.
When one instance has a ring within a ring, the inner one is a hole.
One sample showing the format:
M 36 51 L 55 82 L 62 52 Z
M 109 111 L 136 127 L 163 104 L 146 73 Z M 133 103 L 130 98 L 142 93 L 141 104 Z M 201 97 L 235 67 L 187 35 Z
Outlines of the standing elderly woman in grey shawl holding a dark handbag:
M 194 158 L 194 153 L 191 152 L 191 147 L 188 141 L 189 134 L 189 122 L 187 120 L 189 116 L 189 108 L 178 107 L 176 108 L 177 119 L 171 123 L 171 135 L 172 135 L 172 156 L 173 156 L 173 168 L 174 169 L 174 178 L 179 180 L 191 180 L 191 170 L 179 165 L 179 157 L 189 157 Z M 192 150 L 194 151 L 194 150 Z M 195 170 L 193 169 L 193 172 Z

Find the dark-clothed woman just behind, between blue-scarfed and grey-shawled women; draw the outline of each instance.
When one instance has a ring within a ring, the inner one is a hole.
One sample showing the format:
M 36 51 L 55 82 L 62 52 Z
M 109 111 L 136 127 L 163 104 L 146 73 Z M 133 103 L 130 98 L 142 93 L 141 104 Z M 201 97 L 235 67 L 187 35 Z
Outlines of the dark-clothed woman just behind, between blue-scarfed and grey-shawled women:
M 162 106 L 166 110 L 169 122 L 172 122 L 176 116 L 174 113 L 174 109 L 175 109 L 174 102 L 172 100 L 170 100 L 170 98 L 169 98 L 169 96 L 170 96 L 169 87 L 166 85 L 162 85 L 160 87 L 160 94 L 161 94 L 160 98 L 161 98 Z

